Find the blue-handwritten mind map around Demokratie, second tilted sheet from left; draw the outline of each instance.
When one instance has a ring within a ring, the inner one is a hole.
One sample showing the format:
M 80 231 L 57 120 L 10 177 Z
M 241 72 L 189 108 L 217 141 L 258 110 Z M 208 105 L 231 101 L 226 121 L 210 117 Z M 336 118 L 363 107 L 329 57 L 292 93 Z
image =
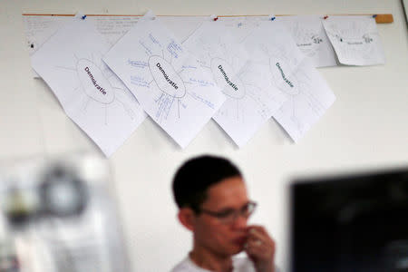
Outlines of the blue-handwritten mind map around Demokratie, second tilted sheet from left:
M 215 87 L 216 84 L 199 74 L 198 63 L 184 63 L 180 60 L 180 53 L 183 51 L 179 44 L 170 41 L 169 44 L 162 45 L 153 34 L 149 34 L 147 42 L 141 40 L 139 43 L 144 48 L 147 61 L 128 60 L 128 65 L 132 68 L 131 84 L 139 90 L 149 90 L 154 94 L 156 121 L 161 123 L 167 120 L 171 112 L 180 119 L 182 109 L 188 107 L 185 101 L 190 99 L 209 108 L 214 107 L 205 96 L 194 90 L 199 87 Z M 187 97 L 189 98 L 186 99 Z

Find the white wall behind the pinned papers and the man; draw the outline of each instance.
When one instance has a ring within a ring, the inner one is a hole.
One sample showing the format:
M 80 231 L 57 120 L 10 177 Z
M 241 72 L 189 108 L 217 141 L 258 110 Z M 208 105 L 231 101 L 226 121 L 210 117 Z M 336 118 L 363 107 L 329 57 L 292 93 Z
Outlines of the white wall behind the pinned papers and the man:
M 190 248 L 176 221 L 170 180 L 180 162 L 201 153 L 227 156 L 242 168 L 265 224 L 277 240 L 277 264 L 287 267 L 287 184 L 312 173 L 408 164 L 408 35 L 399 0 L 53 1 L 0 2 L 0 160 L 70 151 L 99 153 L 63 113 L 52 92 L 32 78 L 21 13 L 157 15 L 393 14 L 378 24 L 387 59 L 373 67 L 321 68 L 337 97 L 306 137 L 288 140 L 269 121 L 238 150 L 215 122 L 181 151 L 151 120 L 110 159 L 132 271 L 168 271 Z M 285 271 L 285 270 L 284 270 Z

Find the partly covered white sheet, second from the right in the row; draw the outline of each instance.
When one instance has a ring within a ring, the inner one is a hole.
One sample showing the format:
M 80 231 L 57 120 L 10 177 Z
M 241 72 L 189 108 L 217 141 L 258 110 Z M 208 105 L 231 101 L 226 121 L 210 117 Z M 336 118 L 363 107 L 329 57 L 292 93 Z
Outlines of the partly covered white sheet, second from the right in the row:
M 315 67 L 336 66 L 335 50 L 325 34 L 320 15 L 278 16 L 277 22 L 287 26 L 302 53 Z

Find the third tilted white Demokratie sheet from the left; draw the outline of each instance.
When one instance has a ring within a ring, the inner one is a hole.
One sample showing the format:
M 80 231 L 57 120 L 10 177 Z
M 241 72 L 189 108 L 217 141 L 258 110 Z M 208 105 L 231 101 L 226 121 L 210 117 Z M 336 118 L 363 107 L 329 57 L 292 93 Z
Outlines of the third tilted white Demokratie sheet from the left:
M 242 147 L 286 101 L 271 85 L 269 73 L 250 63 L 250 54 L 234 42 L 222 22 L 205 22 L 183 43 L 199 57 L 227 96 L 213 119 Z

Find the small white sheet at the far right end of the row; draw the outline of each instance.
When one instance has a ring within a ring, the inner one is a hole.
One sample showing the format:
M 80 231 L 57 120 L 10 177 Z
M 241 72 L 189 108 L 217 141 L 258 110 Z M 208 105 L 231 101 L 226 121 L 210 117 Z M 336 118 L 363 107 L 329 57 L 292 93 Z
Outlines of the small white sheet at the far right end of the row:
M 372 16 L 329 16 L 323 25 L 340 63 L 385 63 L 383 46 Z

